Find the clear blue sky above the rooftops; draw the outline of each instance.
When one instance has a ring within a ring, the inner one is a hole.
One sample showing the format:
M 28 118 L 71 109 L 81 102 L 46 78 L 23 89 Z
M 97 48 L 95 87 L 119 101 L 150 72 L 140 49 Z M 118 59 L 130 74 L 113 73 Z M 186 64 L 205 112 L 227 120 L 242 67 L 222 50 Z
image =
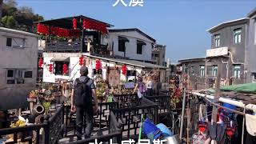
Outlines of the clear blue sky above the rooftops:
M 130 0 L 123 0 L 129 3 Z M 45 19 L 86 15 L 114 25 L 138 28 L 166 45 L 166 58 L 203 57 L 210 48 L 210 27 L 244 18 L 255 0 L 144 0 L 144 6 L 113 7 L 116 0 L 18 0 Z

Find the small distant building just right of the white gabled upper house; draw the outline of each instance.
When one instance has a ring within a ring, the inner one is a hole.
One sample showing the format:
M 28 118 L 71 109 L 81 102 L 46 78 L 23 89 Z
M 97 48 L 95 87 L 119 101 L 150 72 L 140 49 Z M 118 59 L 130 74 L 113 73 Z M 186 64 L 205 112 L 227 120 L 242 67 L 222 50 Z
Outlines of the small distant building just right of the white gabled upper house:
M 152 61 L 156 65 L 166 66 L 166 46 L 156 45 L 152 51 Z

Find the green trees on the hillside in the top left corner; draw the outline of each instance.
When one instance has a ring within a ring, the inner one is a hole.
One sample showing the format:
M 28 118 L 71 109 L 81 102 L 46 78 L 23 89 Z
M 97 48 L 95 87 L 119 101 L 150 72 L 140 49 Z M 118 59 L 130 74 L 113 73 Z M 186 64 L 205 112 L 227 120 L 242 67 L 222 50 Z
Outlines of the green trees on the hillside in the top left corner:
M 34 14 L 30 7 L 17 7 L 15 0 L 4 0 L 2 3 L 1 26 L 33 32 L 33 23 L 42 20 L 43 17 Z

